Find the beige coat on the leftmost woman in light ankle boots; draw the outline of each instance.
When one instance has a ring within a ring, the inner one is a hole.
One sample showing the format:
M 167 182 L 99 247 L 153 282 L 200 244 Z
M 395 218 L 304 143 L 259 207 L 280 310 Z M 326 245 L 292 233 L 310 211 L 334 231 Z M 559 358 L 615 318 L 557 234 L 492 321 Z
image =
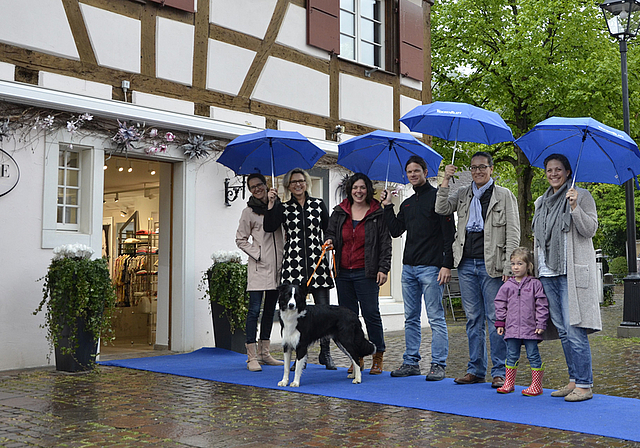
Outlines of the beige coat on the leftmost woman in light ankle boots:
M 280 285 L 282 268 L 282 229 L 265 232 L 264 215 L 258 215 L 251 207 L 242 211 L 236 231 L 236 245 L 249 255 L 247 291 L 270 291 Z

